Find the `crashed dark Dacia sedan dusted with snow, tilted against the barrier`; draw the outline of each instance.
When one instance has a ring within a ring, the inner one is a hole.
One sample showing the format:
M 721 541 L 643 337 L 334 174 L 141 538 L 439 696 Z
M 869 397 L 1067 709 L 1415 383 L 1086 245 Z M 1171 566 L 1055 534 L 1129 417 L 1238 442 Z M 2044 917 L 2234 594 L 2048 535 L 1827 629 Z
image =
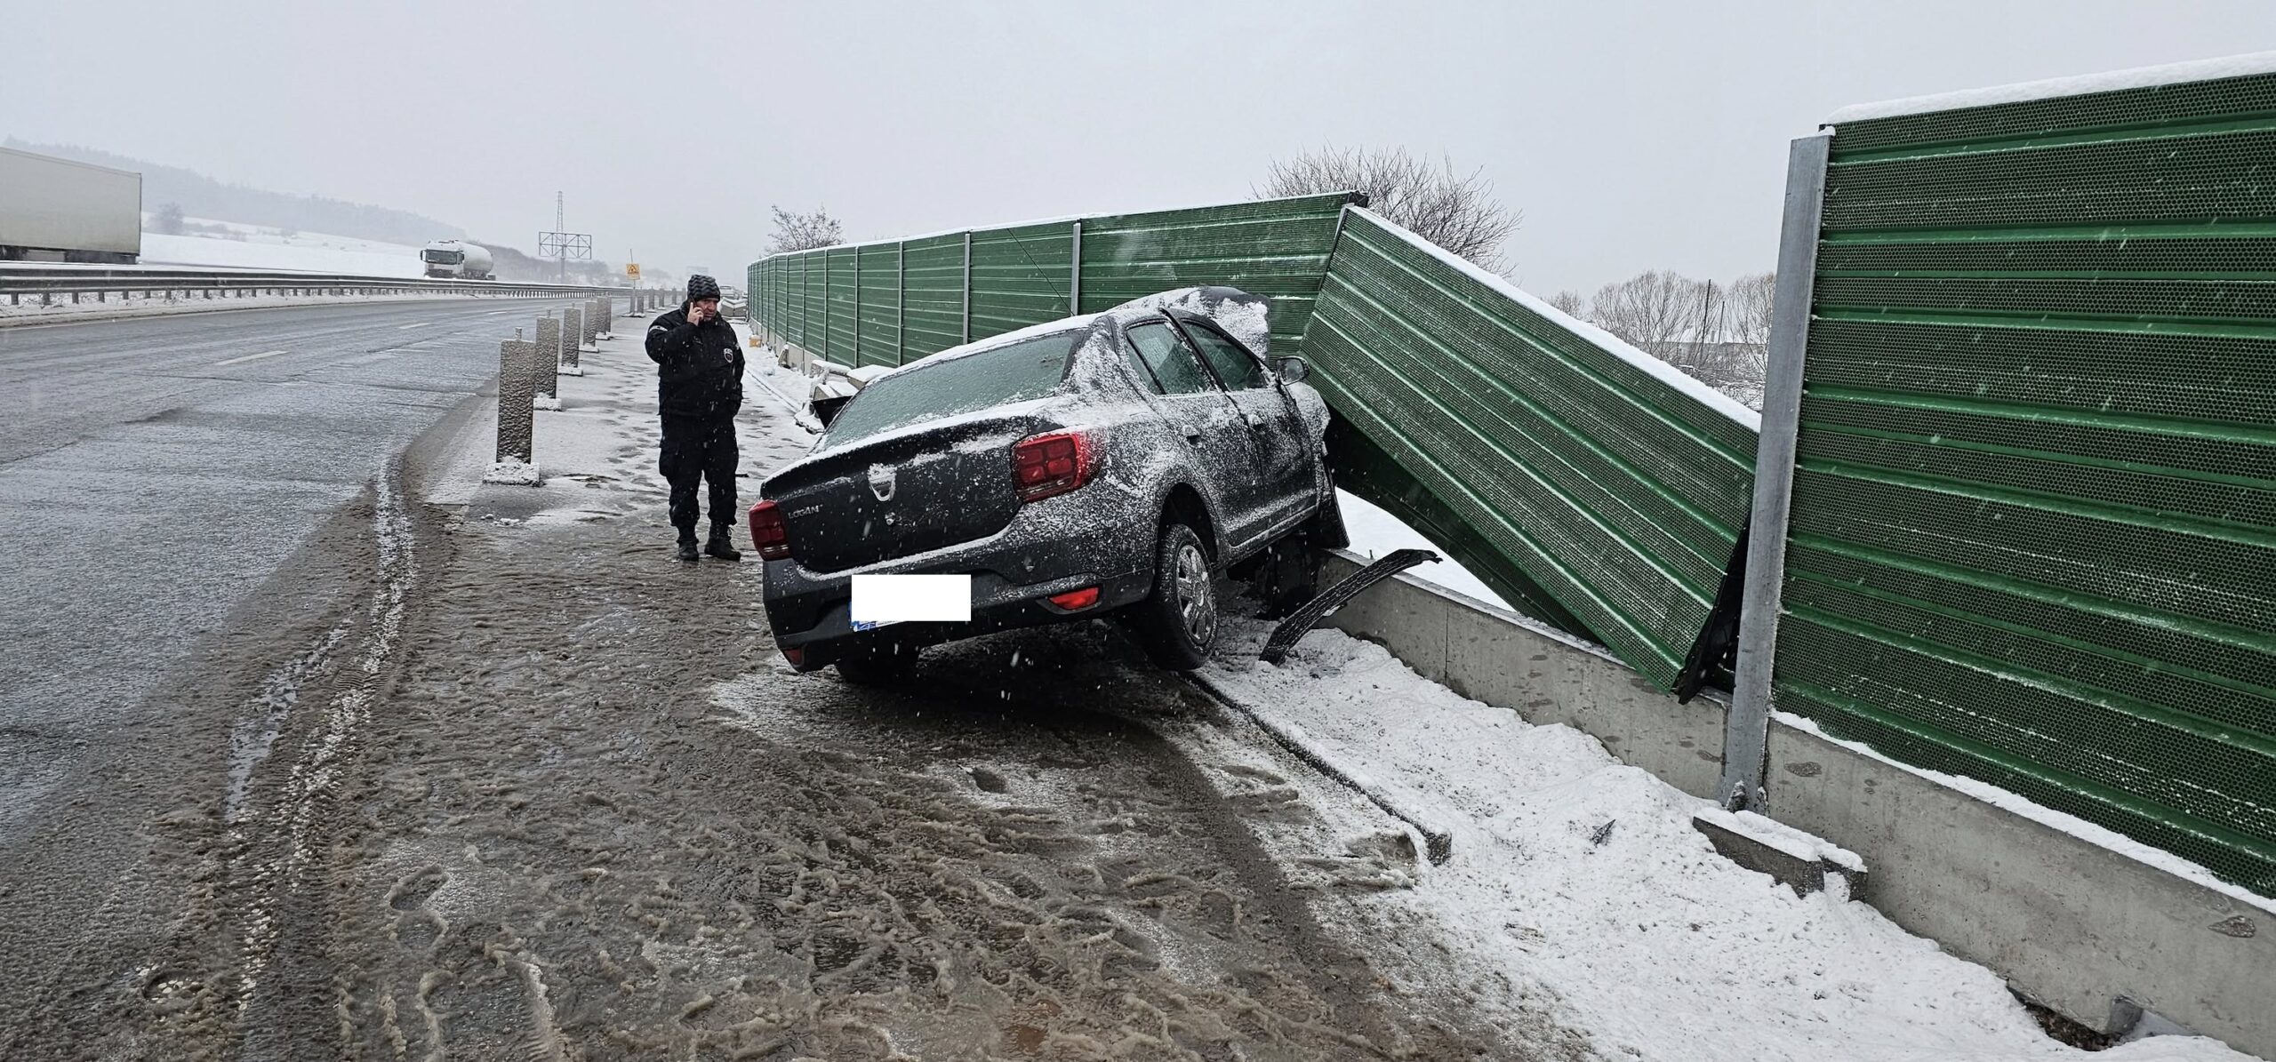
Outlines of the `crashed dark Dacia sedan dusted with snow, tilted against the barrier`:
M 1261 298 L 1181 289 L 876 377 L 751 507 L 776 646 L 869 682 L 929 644 L 1111 614 L 1199 666 L 1218 575 L 1288 607 L 1345 546 L 1327 403 L 1268 341 Z M 858 623 L 858 575 L 965 575 L 970 621 Z

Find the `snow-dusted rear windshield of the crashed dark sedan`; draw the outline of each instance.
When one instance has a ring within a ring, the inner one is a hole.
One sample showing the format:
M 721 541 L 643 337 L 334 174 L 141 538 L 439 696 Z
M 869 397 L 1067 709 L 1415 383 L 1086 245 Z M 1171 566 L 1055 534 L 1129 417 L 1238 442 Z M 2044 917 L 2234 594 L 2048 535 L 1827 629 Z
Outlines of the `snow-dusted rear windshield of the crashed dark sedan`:
M 867 439 L 920 421 L 963 416 L 1004 403 L 1042 398 L 1067 377 L 1079 330 L 1022 339 L 963 355 L 935 366 L 917 366 L 863 387 L 824 437 L 826 446 Z

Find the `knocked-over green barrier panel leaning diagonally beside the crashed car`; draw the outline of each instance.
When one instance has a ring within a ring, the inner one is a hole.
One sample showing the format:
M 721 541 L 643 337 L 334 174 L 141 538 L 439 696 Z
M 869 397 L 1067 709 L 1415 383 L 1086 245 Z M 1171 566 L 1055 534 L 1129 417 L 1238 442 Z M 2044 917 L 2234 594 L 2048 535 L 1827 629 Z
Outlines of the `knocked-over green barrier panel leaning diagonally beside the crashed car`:
M 1753 498 L 1755 421 L 1664 362 L 1352 209 L 1304 334 L 1345 484 L 1661 689 Z

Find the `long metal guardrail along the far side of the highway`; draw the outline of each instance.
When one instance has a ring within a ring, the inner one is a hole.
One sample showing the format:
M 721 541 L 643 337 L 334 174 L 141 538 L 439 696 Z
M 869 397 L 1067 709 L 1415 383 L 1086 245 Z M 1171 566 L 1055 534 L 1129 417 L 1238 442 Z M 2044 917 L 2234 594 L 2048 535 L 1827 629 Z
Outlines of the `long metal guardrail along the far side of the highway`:
M 353 273 L 280 273 L 280 271 L 232 271 L 232 268 L 86 268 L 86 266 L 0 266 L 0 296 L 9 305 L 23 305 L 36 296 L 41 305 L 52 305 L 59 296 L 80 302 L 96 296 L 107 302 L 112 293 L 127 298 L 203 293 L 205 298 L 255 298 L 255 296 L 394 296 L 410 291 L 437 291 L 462 296 L 630 296 L 635 289 L 592 284 L 521 284 L 501 280 L 437 280 L 437 277 L 366 277 Z

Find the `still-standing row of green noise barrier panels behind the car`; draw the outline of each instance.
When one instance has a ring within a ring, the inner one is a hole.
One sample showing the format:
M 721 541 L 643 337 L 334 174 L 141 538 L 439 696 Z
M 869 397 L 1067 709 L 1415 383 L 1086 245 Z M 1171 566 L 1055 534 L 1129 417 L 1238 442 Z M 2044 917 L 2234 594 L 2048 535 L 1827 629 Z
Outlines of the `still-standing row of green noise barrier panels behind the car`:
M 799 364 L 901 366 L 1156 291 L 1231 284 L 1270 300 L 1272 346 L 1295 352 L 1354 200 L 1092 214 L 774 255 L 749 268 L 749 316 Z

